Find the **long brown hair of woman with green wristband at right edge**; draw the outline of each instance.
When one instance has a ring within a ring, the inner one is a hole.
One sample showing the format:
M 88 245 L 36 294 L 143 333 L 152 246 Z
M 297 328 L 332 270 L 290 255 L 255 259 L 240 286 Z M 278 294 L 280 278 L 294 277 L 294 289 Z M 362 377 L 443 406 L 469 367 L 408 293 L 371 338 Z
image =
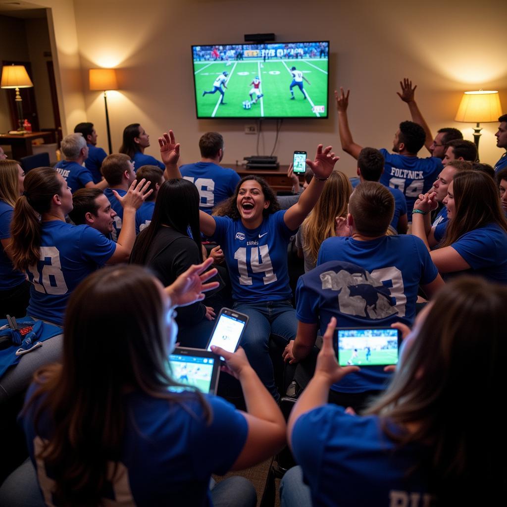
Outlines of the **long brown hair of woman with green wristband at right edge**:
M 455 212 L 439 247 L 450 246 L 463 234 L 496 223 L 507 232 L 507 220 L 494 180 L 482 171 L 460 171 L 453 180 Z

